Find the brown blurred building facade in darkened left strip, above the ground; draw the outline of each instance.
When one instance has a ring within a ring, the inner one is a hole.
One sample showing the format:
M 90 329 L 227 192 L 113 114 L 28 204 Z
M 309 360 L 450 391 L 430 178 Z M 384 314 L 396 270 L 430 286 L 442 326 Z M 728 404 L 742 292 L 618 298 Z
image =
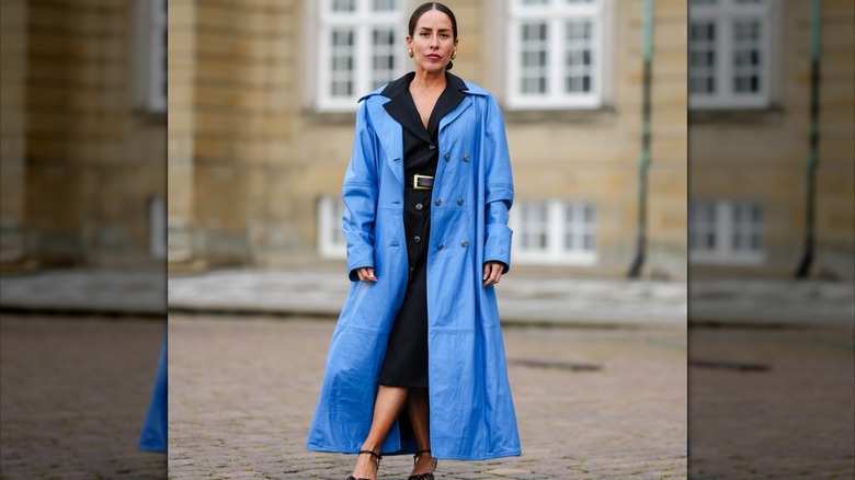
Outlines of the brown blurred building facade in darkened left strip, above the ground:
M 3 0 L 0 266 L 163 265 L 166 0 Z

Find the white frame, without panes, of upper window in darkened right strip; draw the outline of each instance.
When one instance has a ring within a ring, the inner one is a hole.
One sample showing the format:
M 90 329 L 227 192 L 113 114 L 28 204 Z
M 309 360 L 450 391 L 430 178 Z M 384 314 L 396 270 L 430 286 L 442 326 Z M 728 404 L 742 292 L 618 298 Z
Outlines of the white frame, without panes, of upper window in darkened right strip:
M 715 4 L 689 3 L 689 28 L 694 22 L 708 22 L 716 25 L 714 47 L 716 58 L 713 72 L 717 87 L 714 94 L 688 92 L 689 108 L 765 108 L 771 105 L 772 82 L 775 78 L 773 72 L 776 66 L 772 39 L 777 18 L 777 3 L 774 0 L 763 0 L 759 4 L 739 4 L 737 0 L 718 0 Z M 761 28 L 760 90 L 751 93 L 737 93 L 733 91 L 734 23 L 750 20 L 760 22 Z

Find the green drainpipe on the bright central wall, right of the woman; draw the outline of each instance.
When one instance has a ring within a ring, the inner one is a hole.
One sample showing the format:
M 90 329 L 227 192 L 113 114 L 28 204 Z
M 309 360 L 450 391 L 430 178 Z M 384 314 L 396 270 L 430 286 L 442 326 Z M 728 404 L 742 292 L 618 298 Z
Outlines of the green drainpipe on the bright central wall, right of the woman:
M 641 113 L 641 158 L 638 162 L 638 230 L 636 258 L 627 276 L 638 278 L 645 264 L 647 250 L 647 171 L 650 168 L 650 80 L 653 58 L 653 0 L 645 0 L 643 20 L 643 99 Z

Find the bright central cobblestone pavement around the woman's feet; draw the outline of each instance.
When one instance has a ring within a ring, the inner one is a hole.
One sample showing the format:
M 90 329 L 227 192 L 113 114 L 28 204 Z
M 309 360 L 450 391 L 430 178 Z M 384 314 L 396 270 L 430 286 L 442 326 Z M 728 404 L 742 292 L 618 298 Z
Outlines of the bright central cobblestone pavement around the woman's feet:
M 173 479 L 344 479 L 306 450 L 327 320 L 170 317 Z M 523 456 L 441 460 L 443 479 L 685 478 L 686 330 L 506 328 Z M 538 366 L 538 363 L 545 363 Z M 380 478 L 407 478 L 386 457 Z

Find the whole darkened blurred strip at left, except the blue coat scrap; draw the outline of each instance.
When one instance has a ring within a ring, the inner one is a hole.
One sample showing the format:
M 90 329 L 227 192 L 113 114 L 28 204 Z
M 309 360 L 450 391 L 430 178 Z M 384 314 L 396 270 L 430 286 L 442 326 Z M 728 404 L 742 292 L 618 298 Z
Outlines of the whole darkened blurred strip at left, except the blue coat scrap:
M 0 2 L 3 478 L 166 478 L 166 4 Z

